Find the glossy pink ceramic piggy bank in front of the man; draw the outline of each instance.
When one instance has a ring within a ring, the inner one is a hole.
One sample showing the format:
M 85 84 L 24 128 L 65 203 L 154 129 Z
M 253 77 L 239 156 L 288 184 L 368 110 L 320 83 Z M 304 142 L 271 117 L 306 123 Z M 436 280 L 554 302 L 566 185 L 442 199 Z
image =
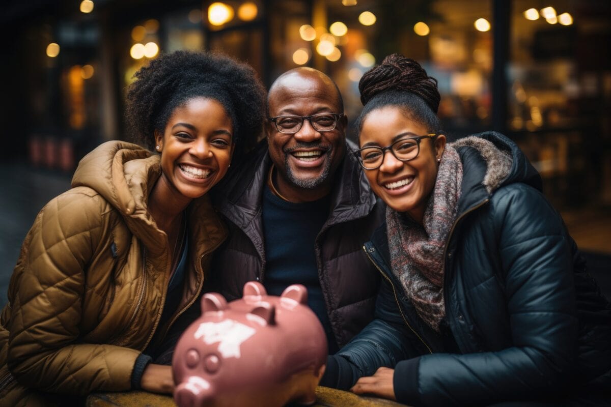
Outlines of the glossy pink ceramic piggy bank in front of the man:
M 301 284 L 280 297 L 260 283 L 227 303 L 205 294 L 202 316 L 181 335 L 172 358 L 180 407 L 312 404 L 327 339 Z

